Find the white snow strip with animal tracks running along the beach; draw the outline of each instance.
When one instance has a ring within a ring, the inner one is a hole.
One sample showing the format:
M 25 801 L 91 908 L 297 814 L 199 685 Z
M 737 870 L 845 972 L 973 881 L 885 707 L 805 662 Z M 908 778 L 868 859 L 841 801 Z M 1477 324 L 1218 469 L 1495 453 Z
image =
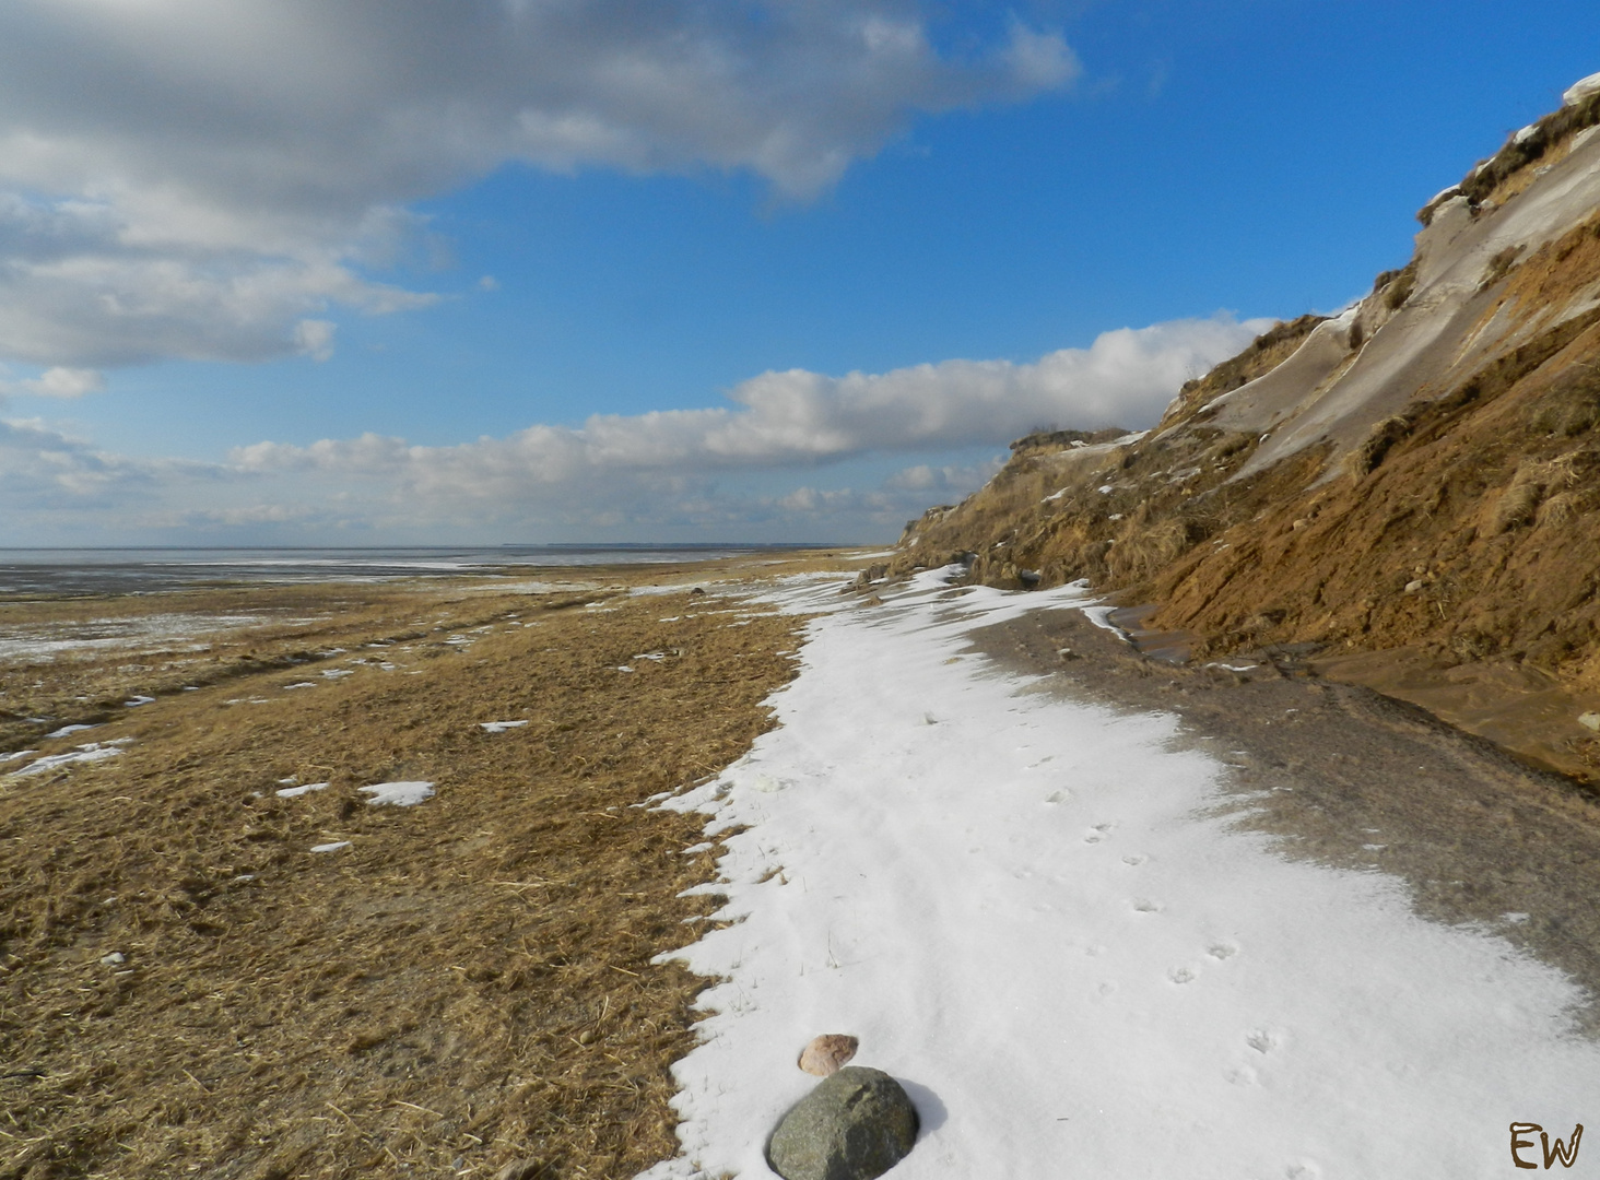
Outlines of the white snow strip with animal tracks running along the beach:
M 747 827 L 718 887 L 742 921 L 680 955 L 726 982 L 675 1066 L 683 1156 L 646 1175 L 770 1175 L 818 1033 L 859 1036 L 856 1063 L 917 1102 L 896 1180 L 1502 1177 L 1510 1122 L 1565 1140 L 1600 1116 L 1557 971 L 1234 830 L 1210 814 L 1224 767 L 1170 748 L 1174 718 L 1030 692 L 966 651 L 1002 614 L 1086 601 L 928 574 L 834 611 L 779 728 L 669 804 Z

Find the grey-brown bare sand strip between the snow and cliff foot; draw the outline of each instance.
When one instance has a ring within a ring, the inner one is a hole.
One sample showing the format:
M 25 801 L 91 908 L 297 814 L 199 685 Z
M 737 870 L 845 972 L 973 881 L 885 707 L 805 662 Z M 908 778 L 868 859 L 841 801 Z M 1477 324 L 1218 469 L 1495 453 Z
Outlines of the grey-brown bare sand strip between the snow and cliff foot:
M 1600 799 L 1419 708 L 1280 656 L 1173 665 L 1078 611 L 976 633 L 1035 691 L 1165 710 L 1179 743 L 1230 764 L 1224 807 L 1286 855 L 1406 883 L 1424 918 L 1509 939 L 1600 998 Z M 1062 651 L 1067 654 L 1064 656 Z M 1576 1014 L 1600 1036 L 1600 1006 Z

